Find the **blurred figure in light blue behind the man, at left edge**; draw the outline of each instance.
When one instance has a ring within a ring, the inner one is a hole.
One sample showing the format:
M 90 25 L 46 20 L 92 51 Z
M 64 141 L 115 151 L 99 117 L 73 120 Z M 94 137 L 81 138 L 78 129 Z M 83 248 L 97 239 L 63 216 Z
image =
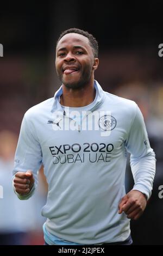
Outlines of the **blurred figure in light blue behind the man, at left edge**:
M 46 202 L 47 185 L 43 169 L 39 172 L 39 186 L 32 198 L 20 200 L 12 187 L 12 169 L 17 135 L 11 131 L 0 132 L 0 245 L 43 244 L 41 208 Z

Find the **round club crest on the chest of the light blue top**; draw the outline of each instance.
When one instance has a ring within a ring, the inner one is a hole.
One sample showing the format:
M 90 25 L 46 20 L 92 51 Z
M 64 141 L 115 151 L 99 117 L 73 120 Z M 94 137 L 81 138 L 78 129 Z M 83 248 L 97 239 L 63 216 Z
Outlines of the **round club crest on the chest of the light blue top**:
M 99 118 L 98 125 L 104 131 L 111 131 L 116 127 L 117 121 L 112 115 L 104 115 Z

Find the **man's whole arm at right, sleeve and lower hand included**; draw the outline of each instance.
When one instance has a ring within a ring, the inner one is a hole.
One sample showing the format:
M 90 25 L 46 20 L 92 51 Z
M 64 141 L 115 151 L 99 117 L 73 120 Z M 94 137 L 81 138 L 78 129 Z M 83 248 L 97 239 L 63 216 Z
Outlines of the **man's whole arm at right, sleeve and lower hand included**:
M 131 171 L 135 185 L 119 204 L 119 214 L 124 211 L 128 218 L 137 220 L 146 208 L 151 196 L 155 176 L 155 154 L 150 147 L 142 113 L 136 105 L 136 114 L 131 125 L 126 148 L 130 155 Z

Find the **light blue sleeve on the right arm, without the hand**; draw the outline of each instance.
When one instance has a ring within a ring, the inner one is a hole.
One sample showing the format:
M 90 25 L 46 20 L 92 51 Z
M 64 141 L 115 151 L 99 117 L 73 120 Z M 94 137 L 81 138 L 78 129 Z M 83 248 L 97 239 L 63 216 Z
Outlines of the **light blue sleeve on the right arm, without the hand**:
M 130 166 L 135 185 L 133 190 L 139 190 L 151 196 L 155 176 L 155 153 L 149 144 L 145 122 L 139 107 L 131 124 L 126 148 L 130 155 Z

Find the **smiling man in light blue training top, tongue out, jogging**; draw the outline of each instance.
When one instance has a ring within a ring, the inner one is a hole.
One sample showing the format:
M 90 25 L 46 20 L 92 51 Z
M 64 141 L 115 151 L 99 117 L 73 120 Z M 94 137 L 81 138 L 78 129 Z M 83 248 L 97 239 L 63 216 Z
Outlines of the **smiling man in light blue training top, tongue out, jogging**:
M 76 28 L 63 32 L 55 60 L 62 86 L 22 121 L 15 193 L 20 199 L 32 196 L 43 164 L 48 245 L 130 245 L 129 221 L 140 217 L 151 196 L 155 154 L 142 114 L 134 101 L 102 90 L 94 80 L 98 63 L 91 34 Z M 135 181 L 127 194 L 126 150 Z

